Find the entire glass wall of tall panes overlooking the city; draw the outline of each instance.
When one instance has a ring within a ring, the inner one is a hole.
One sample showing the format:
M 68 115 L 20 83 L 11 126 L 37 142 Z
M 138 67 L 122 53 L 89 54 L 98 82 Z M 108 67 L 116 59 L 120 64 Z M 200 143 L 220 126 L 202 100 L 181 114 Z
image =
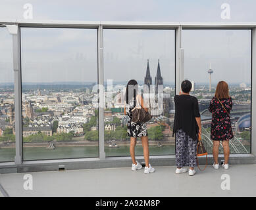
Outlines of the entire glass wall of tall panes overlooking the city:
M 20 28 L 24 160 L 129 156 L 124 95 L 130 79 L 145 85 L 161 108 L 149 104 L 150 155 L 175 154 L 176 30 L 103 28 L 103 118 L 99 116 L 99 29 Z M 184 78 L 199 100 L 203 140 L 211 153 L 209 102 L 224 80 L 233 99 L 232 154 L 251 153 L 251 30 L 182 30 Z M 0 28 L 0 162 L 14 161 L 13 43 Z M 160 88 L 161 87 L 161 88 Z M 104 121 L 100 127 L 100 120 Z M 100 135 L 103 134 L 103 135 Z M 104 137 L 100 139 L 99 137 Z M 220 152 L 222 148 L 220 147 Z M 143 155 L 138 138 L 136 155 Z

